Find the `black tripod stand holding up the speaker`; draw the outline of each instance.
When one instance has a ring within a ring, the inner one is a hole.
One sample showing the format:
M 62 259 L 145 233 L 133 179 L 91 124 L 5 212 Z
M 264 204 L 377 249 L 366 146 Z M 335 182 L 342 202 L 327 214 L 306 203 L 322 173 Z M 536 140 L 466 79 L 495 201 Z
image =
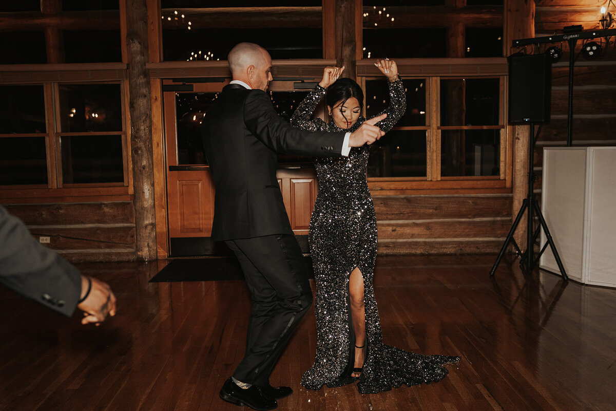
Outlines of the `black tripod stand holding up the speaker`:
M 541 126 L 539 127 L 539 129 L 541 130 Z M 528 182 L 529 190 L 528 190 L 526 198 L 524 198 L 524 200 L 522 201 L 522 206 L 520 207 L 520 211 L 518 211 L 517 213 L 516 219 L 513 222 L 513 226 L 511 226 L 511 229 L 509 230 L 509 234 L 507 235 L 507 238 L 505 238 L 505 243 L 503 244 L 503 248 L 501 248 L 500 253 L 498 253 L 498 258 L 496 258 L 496 262 L 494 263 L 494 266 L 492 267 L 492 270 L 490 271 L 490 277 L 494 276 L 494 273 L 496 272 L 496 268 L 498 267 L 498 264 L 500 264 L 500 261 L 503 258 L 503 255 L 505 255 L 505 252 L 507 251 L 509 244 L 513 244 L 514 248 L 516 249 L 516 253 L 520 257 L 520 267 L 522 268 L 522 271 L 524 271 L 527 274 L 530 274 L 530 272 L 532 272 L 533 269 L 537 266 L 539 259 L 541 258 L 541 254 L 543 254 L 543 251 L 545 251 L 549 245 L 554 255 L 554 259 L 556 259 L 556 264 L 558 264 L 558 269 L 561 271 L 562 279 L 565 281 L 568 281 L 569 277 L 567 277 L 567 273 L 565 272 L 565 267 L 562 266 L 561 257 L 559 256 L 558 251 L 556 250 L 556 245 L 554 245 L 554 240 L 552 239 L 552 236 L 549 234 L 548 224 L 546 224 L 545 218 L 543 218 L 543 213 L 541 213 L 541 209 L 539 208 L 537 199 L 535 198 L 535 193 L 533 193 L 533 182 L 535 181 L 535 173 L 533 172 L 533 153 L 535 150 L 535 141 L 536 141 L 535 125 L 531 122 L 530 123 L 530 136 L 529 136 L 529 145 L 530 145 L 529 147 L 529 182 Z M 522 252 L 519 245 L 517 245 L 515 238 L 513 238 L 513 234 L 514 232 L 516 232 L 517 225 L 522 220 L 524 211 L 527 211 L 527 229 L 526 229 L 527 232 L 526 232 L 526 250 Z M 535 218 L 534 218 L 535 215 L 537 216 L 539 220 L 537 229 L 535 229 Z M 535 248 L 535 244 L 538 244 L 537 237 L 539 236 L 541 229 L 543 229 L 543 232 L 545 232 L 547 242 L 541 247 L 541 250 L 539 251 L 537 256 L 535 256 L 534 248 Z

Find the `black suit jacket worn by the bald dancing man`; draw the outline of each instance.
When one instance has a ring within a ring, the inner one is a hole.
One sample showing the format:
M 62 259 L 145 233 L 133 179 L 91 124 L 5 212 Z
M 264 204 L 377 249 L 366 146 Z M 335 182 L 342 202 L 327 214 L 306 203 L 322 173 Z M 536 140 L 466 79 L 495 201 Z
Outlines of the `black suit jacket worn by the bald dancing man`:
M 294 128 L 266 92 L 240 84 L 222 89 L 201 133 L 216 187 L 214 240 L 293 234 L 276 178 L 277 153 L 339 156 L 344 141 L 344 132 Z

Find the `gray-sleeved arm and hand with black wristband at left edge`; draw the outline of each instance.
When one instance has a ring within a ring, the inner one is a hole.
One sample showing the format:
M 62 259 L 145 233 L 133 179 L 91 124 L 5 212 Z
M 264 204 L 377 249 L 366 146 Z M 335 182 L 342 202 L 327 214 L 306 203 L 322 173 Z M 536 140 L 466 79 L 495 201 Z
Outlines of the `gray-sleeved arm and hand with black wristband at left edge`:
M 28 228 L 0 206 L 0 284 L 70 317 L 78 307 L 81 324 L 99 324 L 115 315 L 116 298 L 102 281 L 39 244 Z

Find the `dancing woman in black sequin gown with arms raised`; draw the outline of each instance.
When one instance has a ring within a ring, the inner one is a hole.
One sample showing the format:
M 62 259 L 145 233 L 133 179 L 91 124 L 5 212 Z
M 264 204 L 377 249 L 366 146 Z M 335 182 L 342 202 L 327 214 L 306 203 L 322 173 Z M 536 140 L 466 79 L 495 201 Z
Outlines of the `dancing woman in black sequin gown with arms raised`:
M 404 86 L 393 60 L 378 60 L 375 65 L 389 80 L 390 99 L 384 110 L 387 118 L 376 125 L 389 131 L 405 111 Z M 363 92 L 351 79 L 338 79 L 343 69 L 325 68 L 322 81 L 301 102 L 291 124 L 318 131 L 359 128 L 365 121 L 360 116 Z M 311 120 L 328 87 L 331 120 Z M 443 364 L 460 359 L 423 356 L 383 344 L 372 285 L 377 230 L 366 181 L 370 147 L 352 148 L 348 157 L 314 160 L 318 195 L 309 244 L 316 285 L 317 353 L 314 365 L 302 376 L 301 383 L 308 389 L 359 380 L 360 393 L 378 393 L 402 384 L 429 383 L 447 375 Z M 360 371 L 353 370 L 362 365 Z

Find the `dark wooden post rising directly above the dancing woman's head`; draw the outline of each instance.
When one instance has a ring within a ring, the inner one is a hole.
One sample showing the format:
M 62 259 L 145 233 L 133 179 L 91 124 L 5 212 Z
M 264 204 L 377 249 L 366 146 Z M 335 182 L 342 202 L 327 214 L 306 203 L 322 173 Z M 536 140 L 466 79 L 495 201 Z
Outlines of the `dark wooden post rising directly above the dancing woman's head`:
M 357 60 L 362 58 L 362 1 L 334 0 L 336 59 L 346 67 L 344 76 L 355 79 Z M 325 28 L 324 31 L 326 31 Z

